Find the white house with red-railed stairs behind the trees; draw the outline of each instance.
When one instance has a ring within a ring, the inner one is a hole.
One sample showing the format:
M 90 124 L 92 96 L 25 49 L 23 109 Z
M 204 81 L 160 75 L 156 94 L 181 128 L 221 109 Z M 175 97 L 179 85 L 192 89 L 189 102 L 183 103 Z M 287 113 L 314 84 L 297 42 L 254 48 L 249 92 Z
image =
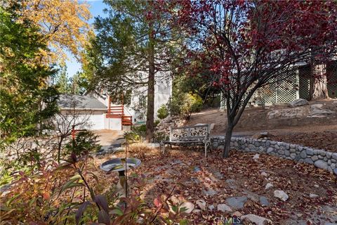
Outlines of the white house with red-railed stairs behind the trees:
M 172 79 L 157 80 L 154 86 L 154 119 L 157 110 L 166 104 L 172 95 Z M 114 104 L 104 92 L 91 93 L 84 96 L 62 94 L 58 100 L 60 112 L 70 115 L 77 113 L 79 120 L 88 120 L 90 129 L 130 129 L 132 124 L 141 124 L 146 120 L 145 87 L 133 90 L 130 105 Z M 71 115 L 70 115 L 71 116 Z

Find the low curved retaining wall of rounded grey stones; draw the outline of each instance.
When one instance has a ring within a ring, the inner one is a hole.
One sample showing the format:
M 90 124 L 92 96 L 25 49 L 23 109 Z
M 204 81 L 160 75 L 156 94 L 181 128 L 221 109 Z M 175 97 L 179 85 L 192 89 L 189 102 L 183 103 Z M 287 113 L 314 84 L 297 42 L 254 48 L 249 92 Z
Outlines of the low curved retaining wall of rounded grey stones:
M 224 148 L 225 136 L 211 137 L 213 148 Z M 337 167 L 337 153 L 291 143 L 264 139 L 232 138 L 230 146 L 244 152 L 266 153 L 281 158 L 305 162 L 332 172 Z

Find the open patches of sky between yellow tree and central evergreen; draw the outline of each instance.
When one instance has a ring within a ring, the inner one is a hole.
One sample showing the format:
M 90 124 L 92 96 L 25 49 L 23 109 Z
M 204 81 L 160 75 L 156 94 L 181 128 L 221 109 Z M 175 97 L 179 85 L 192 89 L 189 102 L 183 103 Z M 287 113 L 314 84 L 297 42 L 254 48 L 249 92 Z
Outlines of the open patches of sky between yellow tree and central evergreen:
M 104 17 L 105 13 L 103 13 L 103 9 L 106 8 L 103 1 L 94 0 L 94 1 L 79 1 L 79 3 L 86 3 L 90 5 L 90 12 L 92 18 L 88 21 L 88 23 L 93 24 L 95 17 L 100 15 Z M 69 60 L 65 62 L 67 65 L 67 73 L 69 77 L 72 77 L 77 73 L 77 71 L 81 70 L 81 63 L 78 63 L 77 60 L 72 56 L 71 53 L 67 53 Z

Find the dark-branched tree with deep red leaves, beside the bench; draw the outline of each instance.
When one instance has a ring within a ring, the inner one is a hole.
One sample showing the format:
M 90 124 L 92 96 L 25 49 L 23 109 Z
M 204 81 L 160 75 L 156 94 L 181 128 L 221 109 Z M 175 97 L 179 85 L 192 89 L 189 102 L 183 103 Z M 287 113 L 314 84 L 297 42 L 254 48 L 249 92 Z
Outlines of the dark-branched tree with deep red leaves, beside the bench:
M 187 32 L 190 71 L 211 71 L 224 97 L 227 158 L 234 126 L 254 92 L 289 79 L 296 65 L 336 56 L 333 1 L 176 1 L 173 23 Z M 195 63 L 195 62 L 200 63 Z

